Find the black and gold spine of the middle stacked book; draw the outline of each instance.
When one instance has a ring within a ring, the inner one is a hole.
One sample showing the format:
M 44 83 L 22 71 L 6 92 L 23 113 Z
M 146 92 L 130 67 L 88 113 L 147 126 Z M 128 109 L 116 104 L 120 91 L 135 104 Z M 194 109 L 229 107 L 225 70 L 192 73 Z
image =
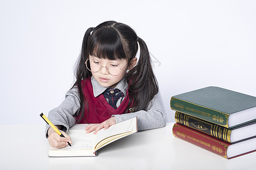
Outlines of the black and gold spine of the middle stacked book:
M 175 112 L 175 121 L 181 125 L 211 135 L 212 137 L 220 139 L 221 141 L 231 143 L 231 130 L 224 128 L 223 126 L 219 126 L 178 111 Z

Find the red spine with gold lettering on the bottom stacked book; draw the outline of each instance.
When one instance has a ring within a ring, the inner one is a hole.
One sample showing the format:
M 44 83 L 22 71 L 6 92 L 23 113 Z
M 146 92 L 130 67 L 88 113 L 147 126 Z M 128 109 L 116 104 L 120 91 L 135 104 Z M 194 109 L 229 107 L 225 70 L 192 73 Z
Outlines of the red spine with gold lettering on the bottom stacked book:
M 230 145 L 229 143 L 177 123 L 174 124 L 172 133 L 177 138 L 183 139 L 184 141 L 204 148 L 205 150 L 223 156 L 224 158 L 228 158 L 226 151 Z

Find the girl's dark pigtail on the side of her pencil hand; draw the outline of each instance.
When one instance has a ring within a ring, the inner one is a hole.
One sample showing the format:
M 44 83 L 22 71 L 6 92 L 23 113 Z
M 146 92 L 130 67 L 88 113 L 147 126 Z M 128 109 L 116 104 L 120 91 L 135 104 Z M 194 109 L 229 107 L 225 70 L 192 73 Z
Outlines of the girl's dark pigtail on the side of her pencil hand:
M 79 109 L 79 112 L 77 112 L 77 114 L 76 114 L 76 116 L 79 117 L 79 120 L 77 122 L 80 122 L 82 120 L 82 118 L 84 117 L 85 107 L 89 111 L 88 103 L 86 102 L 86 99 L 85 99 L 84 95 L 82 94 L 81 80 L 86 79 L 89 76 L 92 76 L 92 73 L 90 73 L 90 71 L 85 66 L 85 61 L 89 56 L 89 54 L 87 53 L 87 47 L 88 47 L 88 41 L 90 39 L 90 35 L 93 30 L 94 30 L 93 27 L 88 28 L 84 34 L 84 39 L 82 40 L 81 53 L 80 53 L 79 59 L 76 62 L 76 67 L 75 67 L 76 82 L 73 85 L 73 87 L 74 86 L 78 87 L 79 96 L 80 96 L 80 109 Z M 86 103 L 86 105 L 85 105 L 85 103 Z

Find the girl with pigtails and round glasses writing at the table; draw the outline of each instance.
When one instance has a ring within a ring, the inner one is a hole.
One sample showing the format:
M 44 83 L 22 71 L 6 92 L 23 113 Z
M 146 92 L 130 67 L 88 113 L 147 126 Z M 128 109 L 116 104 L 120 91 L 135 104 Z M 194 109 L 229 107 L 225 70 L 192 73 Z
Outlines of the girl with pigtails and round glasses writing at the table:
M 52 147 L 72 143 L 64 131 L 75 124 L 90 124 L 85 131 L 94 134 L 133 117 L 138 130 L 166 125 L 147 46 L 128 25 L 108 21 L 87 29 L 75 74 L 63 103 L 48 114 L 65 136 L 47 126 Z

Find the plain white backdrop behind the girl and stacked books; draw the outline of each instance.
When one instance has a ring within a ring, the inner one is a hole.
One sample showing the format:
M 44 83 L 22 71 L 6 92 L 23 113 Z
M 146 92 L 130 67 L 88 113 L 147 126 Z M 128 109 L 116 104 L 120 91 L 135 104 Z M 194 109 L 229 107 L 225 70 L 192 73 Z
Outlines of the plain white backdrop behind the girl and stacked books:
M 0 124 L 44 124 L 74 82 L 87 28 L 130 25 L 146 41 L 166 109 L 218 86 L 256 96 L 256 1 L 0 1 Z

